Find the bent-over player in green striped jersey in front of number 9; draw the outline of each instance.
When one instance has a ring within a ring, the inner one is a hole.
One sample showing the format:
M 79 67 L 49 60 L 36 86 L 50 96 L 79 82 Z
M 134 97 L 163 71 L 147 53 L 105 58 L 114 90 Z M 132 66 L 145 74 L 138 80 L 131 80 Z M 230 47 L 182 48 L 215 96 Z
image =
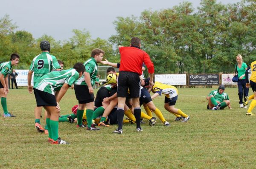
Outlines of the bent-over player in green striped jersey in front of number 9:
M 59 101 L 67 92 L 67 89 L 82 76 L 84 71 L 84 65 L 82 63 L 76 63 L 69 70 L 47 73 L 35 83 L 34 94 L 37 107 L 43 106 L 47 111 L 48 141 L 51 144 L 68 144 L 58 137 Z M 61 87 L 61 90 L 55 98 L 55 88 L 59 87 Z

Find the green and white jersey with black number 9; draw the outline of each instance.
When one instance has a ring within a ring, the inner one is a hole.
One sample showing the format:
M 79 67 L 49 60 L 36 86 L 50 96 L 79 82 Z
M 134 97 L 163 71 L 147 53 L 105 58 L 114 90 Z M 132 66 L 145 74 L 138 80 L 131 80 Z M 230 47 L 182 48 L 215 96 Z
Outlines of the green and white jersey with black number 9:
M 40 82 L 39 79 L 46 73 L 53 70 L 60 69 L 61 66 L 55 56 L 50 55 L 48 52 L 42 52 L 40 55 L 35 56 L 29 70 L 34 72 L 34 85 Z

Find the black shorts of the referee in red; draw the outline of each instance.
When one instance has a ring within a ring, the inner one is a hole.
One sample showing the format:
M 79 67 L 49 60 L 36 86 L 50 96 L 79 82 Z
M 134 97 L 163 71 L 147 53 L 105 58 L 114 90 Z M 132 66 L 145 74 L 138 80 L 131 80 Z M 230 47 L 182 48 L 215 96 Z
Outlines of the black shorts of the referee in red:
M 131 98 L 140 97 L 140 76 L 134 72 L 120 71 L 117 82 L 117 97 L 127 97 L 128 88 Z

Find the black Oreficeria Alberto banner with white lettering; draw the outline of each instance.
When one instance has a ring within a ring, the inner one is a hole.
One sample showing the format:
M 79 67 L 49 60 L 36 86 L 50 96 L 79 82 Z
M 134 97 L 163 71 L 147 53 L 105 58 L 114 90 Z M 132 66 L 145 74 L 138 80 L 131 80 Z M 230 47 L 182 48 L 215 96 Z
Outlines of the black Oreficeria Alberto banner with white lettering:
M 219 85 L 219 74 L 190 74 L 189 85 Z

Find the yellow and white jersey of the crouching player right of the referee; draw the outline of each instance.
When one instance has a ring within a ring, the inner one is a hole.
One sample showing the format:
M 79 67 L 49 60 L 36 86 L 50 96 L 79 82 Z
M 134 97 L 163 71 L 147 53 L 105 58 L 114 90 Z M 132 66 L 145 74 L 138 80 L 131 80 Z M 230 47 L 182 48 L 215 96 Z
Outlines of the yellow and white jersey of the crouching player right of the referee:
M 166 85 L 160 82 L 155 82 L 152 87 L 153 93 L 158 93 L 160 96 L 162 94 L 166 95 L 167 98 L 173 98 L 178 95 L 178 90 L 172 85 Z

